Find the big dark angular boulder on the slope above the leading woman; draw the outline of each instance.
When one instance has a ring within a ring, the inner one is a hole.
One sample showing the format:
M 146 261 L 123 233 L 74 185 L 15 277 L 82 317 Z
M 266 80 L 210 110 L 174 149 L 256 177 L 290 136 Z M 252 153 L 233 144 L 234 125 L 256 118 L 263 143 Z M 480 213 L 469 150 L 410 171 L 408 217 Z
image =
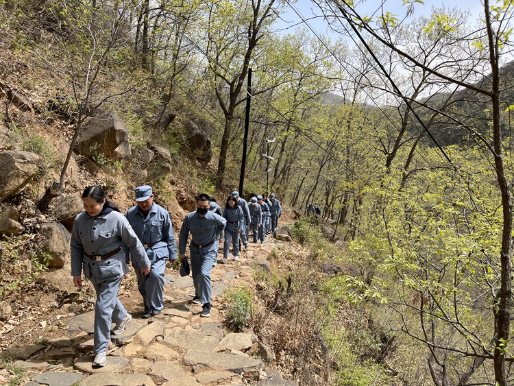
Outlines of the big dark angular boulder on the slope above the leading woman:
M 128 158 L 132 154 L 128 136 L 127 126 L 117 114 L 101 114 L 82 128 L 76 149 L 79 154 L 90 158 L 99 154 L 107 158 Z

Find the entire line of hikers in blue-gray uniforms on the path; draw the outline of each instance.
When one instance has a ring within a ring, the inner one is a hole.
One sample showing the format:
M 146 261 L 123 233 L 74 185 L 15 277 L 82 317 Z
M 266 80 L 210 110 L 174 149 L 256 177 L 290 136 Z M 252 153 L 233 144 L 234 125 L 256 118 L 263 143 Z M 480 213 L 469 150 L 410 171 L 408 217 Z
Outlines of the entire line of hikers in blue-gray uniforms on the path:
M 196 210 L 182 222 L 177 243 L 169 213 L 154 202 L 149 185 L 135 189 L 136 205 L 125 215 L 107 200 L 101 186 L 88 186 L 82 193 L 84 212 L 73 224 L 71 234 L 71 276 L 75 287 L 82 287 L 82 273 L 92 282 L 97 294 L 93 366 L 107 363 L 111 335 L 121 335 L 132 319 L 118 298 L 121 280 L 134 267 L 138 291 L 143 297 L 143 318 L 160 315 L 164 309 L 164 269 L 168 261 L 184 261 L 189 234 L 191 273 L 195 287 L 193 304 L 202 304 L 201 317 L 211 311 L 210 272 L 217 263 L 219 240 L 223 234 L 223 259 L 228 260 L 230 241 L 234 261 L 238 261 L 241 243 L 248 248 L 248 230 L 253 242 L 265 242 L 265 235 L 275 232 L 282 216 L 280 202 L 272 193 L 252 195 L 246 202 L 233 191 L 222 210 L 216 200 L 204 193 L 196 198 Z M 241 235 L 241 241 L 239 236 Z M 177 257 L 178 255 L 178 257 Z

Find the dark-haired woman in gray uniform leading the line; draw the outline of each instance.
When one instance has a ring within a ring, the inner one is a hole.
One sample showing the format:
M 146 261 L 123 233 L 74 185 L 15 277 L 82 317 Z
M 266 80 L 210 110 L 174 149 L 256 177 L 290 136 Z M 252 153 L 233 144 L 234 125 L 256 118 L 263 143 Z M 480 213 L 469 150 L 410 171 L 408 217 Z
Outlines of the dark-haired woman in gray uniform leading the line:
M 75 217 L 71 231 L 71 276 L 73 285 L 82 287 L 82 270 L 95 287 L 95 337 L 93 366 L 106 365 L 110 326 L 121 335 L 132 316 L 118 299 L 121 279 L 128 272 L 122 243 L 127 245 L 143 274 L 150 272 L 150 261 L 129 222 L 100 186 L 88 186 L 82 193 L 85 212 Z

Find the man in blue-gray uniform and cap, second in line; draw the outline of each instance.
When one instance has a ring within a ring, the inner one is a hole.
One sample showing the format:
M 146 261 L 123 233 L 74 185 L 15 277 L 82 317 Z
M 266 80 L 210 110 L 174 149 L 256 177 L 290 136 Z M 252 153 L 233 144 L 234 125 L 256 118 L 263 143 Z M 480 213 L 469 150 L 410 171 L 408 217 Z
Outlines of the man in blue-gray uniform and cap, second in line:
M 132 256 L 132 264 L 138 278 L 138 290 L 143 296 L 145 311 L 143 317 L 148 319 L 159 315 L 164 309 L 164 269 L 167 261 L 177 258 L 175 233 L 169 213 L 154 202 L 154 192 L 151 186 L 143 185 L 136 188 L 137 205 L 132 206 L 125 217 L 147 252 L 151 263 L 151 271 L 143 275 L 137 261 Z M 127 264 L 130 264 L 130 254 L 124 246 Z

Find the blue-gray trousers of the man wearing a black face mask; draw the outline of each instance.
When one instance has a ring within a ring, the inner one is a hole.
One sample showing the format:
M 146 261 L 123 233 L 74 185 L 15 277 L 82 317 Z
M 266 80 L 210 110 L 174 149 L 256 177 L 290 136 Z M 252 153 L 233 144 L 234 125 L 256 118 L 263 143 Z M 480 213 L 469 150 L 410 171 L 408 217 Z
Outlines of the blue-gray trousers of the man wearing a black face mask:
M 210 248 L 211 245 L 208 245 L 207 248 L 197 248 L 194 245 L 189 245 L 195 296 L 200 298 L 201 304 L 210 303 L 212 293 L 210 271 L 217 259 L 217 249 Z

